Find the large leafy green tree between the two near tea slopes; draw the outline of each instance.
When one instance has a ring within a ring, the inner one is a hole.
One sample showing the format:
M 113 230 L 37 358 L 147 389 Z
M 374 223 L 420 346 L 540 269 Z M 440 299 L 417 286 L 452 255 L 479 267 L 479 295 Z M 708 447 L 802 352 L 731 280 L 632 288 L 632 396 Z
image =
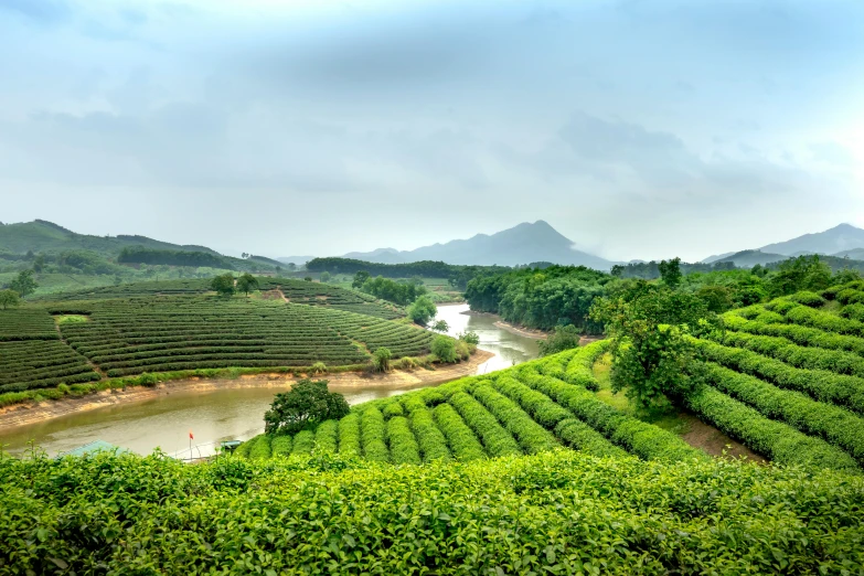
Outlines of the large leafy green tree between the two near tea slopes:
M 591 316 L 611 338 L 612 390 L 626 390 L 642 407 L 663 405 L 666 395 L 683 396 L 700 382 L 698 358 L 687 334 L 719 326 L 695 295 L 640 280 L 625 294 L 597 300 Z

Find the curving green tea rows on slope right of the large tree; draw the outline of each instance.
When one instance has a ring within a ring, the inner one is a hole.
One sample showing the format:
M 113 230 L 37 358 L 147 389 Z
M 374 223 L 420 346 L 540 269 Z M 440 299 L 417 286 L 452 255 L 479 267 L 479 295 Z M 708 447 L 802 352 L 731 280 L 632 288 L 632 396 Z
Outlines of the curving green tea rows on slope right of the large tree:
M 845 313 L 857 294 L 855 282 L 726 313 L 724 333 L 692 340 L 707 386 L 684 403 L 775 461 L 860 470 L 864 324 Z

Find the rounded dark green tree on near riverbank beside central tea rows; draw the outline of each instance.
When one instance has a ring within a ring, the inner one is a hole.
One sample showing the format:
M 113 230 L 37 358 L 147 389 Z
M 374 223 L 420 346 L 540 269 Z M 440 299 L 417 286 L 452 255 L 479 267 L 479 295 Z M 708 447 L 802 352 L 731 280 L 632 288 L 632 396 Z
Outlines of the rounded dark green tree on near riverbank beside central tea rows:
M 264 415 L 266 434 L 294 434 L 324 420 L 338 420 L 350 408 L 344 396 L 327 390 L 327 381 L 303 378 L 277 394 Z

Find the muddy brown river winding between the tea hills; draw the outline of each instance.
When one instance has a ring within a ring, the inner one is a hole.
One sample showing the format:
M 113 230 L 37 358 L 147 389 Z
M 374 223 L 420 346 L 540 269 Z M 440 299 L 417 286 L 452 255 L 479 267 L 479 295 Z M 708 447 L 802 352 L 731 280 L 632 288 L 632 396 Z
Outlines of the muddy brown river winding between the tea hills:
M 470 330 L 480 337 L 479 348 L 494 356 L 478 367 L 478 374 L 512 366 L 537 356 L 537 343 L 531 338 L 508 332 L 494 326 L 493 316 L 471 314 L 468 305 L 442 306 L 436 320 L 446 320 L 449 333 Z M 382 386 L 339 388 L 349 404 L 402 394 L 425 387 L 393 390 Z M 206 456 L 222 440 L 246 439 L 264 430 L 264 413 L 275 394 L 284 387 L 221 388 L 206 392 L 178 390 L 156 398 L 130 402 L 90 412 L 61 416 L 44 423 L 0 433 L 3 449 L 19 452 L 33 441 L 50 455 L 71 450 L 94 440 L 119 446 L 138 454 L 159 447 L 163 451 L 188 457 L 189 433 L 192 455 Z

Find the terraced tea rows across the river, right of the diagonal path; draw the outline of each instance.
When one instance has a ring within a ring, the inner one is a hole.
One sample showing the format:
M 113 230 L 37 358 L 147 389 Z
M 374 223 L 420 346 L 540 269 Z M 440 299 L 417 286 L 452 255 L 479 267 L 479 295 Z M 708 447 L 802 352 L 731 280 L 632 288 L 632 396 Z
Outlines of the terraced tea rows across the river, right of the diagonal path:
M 62 324 L 70 345 L 108 376 L 227 366 L 364 363 L 370 351 L 423 355 L 431 335 L 408 324 L 320 307 L 211 296 L 51 305 L 86 313 Z

